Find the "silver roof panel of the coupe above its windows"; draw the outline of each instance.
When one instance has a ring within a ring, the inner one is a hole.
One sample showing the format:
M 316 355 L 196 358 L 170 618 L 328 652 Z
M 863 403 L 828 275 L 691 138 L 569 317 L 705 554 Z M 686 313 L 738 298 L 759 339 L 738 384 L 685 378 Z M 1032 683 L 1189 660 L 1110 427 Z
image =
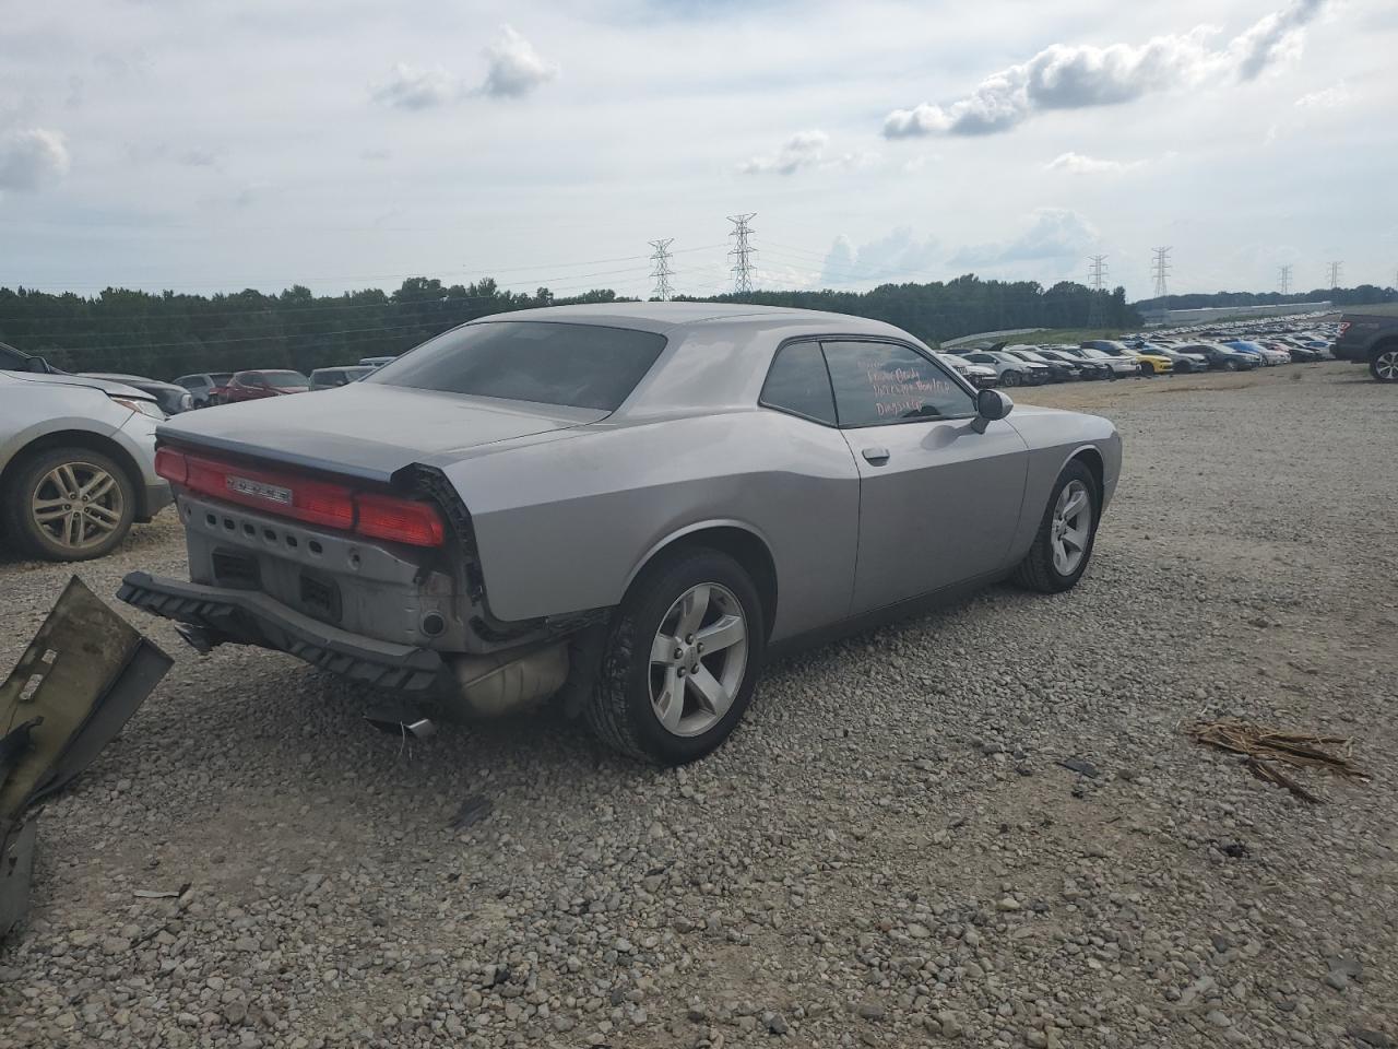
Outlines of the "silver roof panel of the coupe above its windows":
M 628 327 L 637 331 L 670 334 L 691 324 L 738 324 L 745 327 L 779 329 L 822 326 L 849 334 L 884 334 L 906 338 L 900 329 L 882 320 L 832 313 L 821 309 L 791 309 L 787 306 L 752 306 L 745 302 L 594 302 L 579 306 L 541 306 L 492 313 L 471 320 L 473 324 L 498 324 L 510 320 L 549 322 L 555 324 L 600 324 Z

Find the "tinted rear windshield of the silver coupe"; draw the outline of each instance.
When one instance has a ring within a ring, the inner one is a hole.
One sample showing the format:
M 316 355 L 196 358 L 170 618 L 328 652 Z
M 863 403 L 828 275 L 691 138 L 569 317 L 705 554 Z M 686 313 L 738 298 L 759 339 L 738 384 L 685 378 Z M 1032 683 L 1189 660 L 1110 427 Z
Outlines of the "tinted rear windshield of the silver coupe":
M 446 331 L 363 382 L 615 411 L 664 348 L 651 331 L 500 320 Z

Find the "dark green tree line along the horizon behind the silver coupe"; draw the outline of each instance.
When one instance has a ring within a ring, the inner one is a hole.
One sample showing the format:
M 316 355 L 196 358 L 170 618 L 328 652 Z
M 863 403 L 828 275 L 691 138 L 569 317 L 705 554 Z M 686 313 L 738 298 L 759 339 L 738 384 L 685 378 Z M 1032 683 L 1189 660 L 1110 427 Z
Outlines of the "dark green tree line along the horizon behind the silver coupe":
M 1093 309 L 1093 298 L 1096 306 Z M 412 277 L 396 291 L 366 288 L 316 295 L 295 285 L 280 294 L 246 290 L 190 295 L 108 288 L 98 295 L 0 288 L 0 341 L 42 354 L 66 371 L 126 372 L 169 379 L 245 368 L 309 372 L 362 357 L 400 354 L 475 317 L 531 306 L 618 302 L 600 288 L 555 297 L 500 288 L 492 278 L 443 285 Z M 1015 327 L 1132 327 L 1141 315 L 1111 292 L 1062 281 L 981 280 L 973 274 L 928 284 L 884 284 L 870 291 L 755 291 L 719 302 L 798 306 L 874 317 L 930 343 Z

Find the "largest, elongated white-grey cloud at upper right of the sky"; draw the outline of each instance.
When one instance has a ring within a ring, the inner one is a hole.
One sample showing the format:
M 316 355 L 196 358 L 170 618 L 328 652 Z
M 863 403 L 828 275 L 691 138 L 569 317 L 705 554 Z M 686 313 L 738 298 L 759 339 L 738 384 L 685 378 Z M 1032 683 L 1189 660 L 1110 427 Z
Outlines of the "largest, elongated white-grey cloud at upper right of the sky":
M 994 134 L 1050 109 L 1085 109 L 1131 102 L 1142 95 L 1188 88 L 1223 76 L 1253 80 L 1295 57 L 1304 27 L 1327 0 L 1293 0 L 1218 49 L 1218 29 L 1156 36 L 1144 45 L 1054 43 L 1029 62 L 994 73 L 965 98 L 948 105 L 923 102 L 896 109 L 884 120 L 884 136 Z

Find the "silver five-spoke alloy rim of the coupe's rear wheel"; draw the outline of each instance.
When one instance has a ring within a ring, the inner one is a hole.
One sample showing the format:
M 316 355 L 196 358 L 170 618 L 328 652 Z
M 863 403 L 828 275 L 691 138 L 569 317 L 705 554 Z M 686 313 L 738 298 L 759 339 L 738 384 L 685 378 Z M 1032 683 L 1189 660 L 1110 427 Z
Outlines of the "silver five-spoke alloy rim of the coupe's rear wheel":
M 702 736 L 733 706 L 748 671 L 748 621 L 734 593 L 699 583 L 660 621 L 650 646 L 650 705 L 665 732 Z

